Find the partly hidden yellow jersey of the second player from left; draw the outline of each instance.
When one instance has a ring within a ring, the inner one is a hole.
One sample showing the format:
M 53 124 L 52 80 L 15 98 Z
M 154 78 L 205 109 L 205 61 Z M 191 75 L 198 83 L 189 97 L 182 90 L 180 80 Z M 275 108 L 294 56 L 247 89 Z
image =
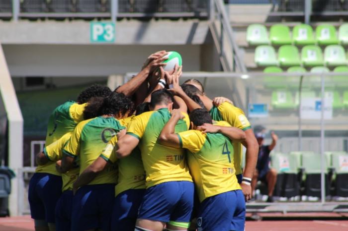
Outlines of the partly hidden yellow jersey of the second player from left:
M 72 132 L 68 132 L 65 135 L 63 135 L 59 140 L 53 142 L 52 144 L 44 148 L 43 152 L 48 160 L 56 162 L 62 159 L 63 148 L 70 140 L 71 135 Z M 76 162 L 78 162 L 78 159 L 75 160 L 73 169 L 71 169 L 69 172 L 62 174 L 63 192 L 66 190 L 73 190 L 73 183 L 76 181 L 80 173 L 80 168 Z

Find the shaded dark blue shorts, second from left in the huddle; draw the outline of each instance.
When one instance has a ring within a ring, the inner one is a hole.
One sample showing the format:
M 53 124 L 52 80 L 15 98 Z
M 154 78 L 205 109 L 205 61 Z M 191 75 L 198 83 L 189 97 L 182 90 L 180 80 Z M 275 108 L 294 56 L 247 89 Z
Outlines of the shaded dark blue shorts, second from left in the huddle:
M 70 231 L 73 209 L 73 191 L 66 190 L 56 205 L 56 231 Z

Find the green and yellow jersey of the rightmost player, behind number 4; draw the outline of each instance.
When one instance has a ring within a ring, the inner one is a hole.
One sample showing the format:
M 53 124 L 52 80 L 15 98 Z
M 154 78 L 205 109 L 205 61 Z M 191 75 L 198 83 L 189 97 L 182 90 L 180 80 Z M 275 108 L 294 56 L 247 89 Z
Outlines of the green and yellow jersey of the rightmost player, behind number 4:
M 231 126 L 242 129 L 243 131 L 246 131 L 251 128 L 251 124 L 248 118 L 245 116 L 244 112 L 228 102 L 222 103 L 219 107 L 213 106 L 209 113 L 214 120 L 225 120 Z M 242 143 L 233 142 L 233 146 L 235 148 L 234 165 L 236 168 L 236 174 L 242 174 Z

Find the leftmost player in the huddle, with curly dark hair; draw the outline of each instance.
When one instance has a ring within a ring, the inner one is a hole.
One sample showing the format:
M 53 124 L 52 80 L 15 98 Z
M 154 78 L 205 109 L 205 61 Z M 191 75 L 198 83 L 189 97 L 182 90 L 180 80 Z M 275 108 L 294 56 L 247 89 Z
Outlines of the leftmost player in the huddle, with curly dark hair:
M 108 87 L 92 85 L 82 91 L 77 102 L 68 101 L 58 106 L 48 120 L 46 146 L 60 139 L 84 120 L 86 103 L 92 97 L 104 97 L 111 93 Z M 61 173 L 56 170 L 56 162 L 49 161 L 36 168 L 29 182 L 28 199 L 31 218 L 36 231 L 55 230 L 55 207 L 62 193 Z

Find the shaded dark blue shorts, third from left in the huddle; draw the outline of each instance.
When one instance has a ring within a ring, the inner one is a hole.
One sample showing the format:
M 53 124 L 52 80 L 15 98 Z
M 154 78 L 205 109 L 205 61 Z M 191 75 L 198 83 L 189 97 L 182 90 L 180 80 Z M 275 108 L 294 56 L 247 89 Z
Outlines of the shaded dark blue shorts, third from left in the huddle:
M 73 199 L 71 230 L 110 230 L 115 184 L 93 184 L 79 188 Z

